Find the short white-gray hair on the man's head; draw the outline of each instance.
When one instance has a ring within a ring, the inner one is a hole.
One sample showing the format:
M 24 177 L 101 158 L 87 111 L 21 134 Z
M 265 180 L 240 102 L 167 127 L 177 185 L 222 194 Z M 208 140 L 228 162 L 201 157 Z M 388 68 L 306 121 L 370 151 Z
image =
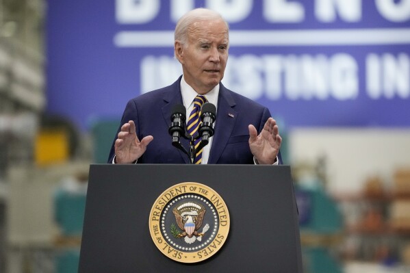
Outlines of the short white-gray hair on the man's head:
M 227 25 L 229 34 L 229 25 L 218 12 L 206 8 L 196 8 L 195 10 L 191 10 L 179 19 L 177 26 L 175 27 L 175 41 L 179 40 L 179 42 L 183 44 L 183 47 L 186 47 L 186 44 L 188 44 L 188 29 L 190 25 L 197 21 L 218 20 L 222 20 Z

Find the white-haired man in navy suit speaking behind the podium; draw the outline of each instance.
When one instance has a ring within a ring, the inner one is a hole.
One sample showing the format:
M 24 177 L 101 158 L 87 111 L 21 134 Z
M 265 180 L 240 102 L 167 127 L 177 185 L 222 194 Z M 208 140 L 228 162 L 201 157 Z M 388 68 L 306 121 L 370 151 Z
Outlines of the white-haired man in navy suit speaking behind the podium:
M 175 57 L 183 75 L 127 103 L 108 162 L 190 163 L 171 145 L 168 127 L 172 107 L 183 103 L 189 116 L 200 94 L 217 108 L 215 135 L 203 148 L 201 164 L 281 164 L 282 139 L 269 110 L 220 83 L 228 50 L 229 26 L 220 14 L 199 8 L 182 16 L 175 27 Z M 182 138 L 181 144 L 189 145 Z

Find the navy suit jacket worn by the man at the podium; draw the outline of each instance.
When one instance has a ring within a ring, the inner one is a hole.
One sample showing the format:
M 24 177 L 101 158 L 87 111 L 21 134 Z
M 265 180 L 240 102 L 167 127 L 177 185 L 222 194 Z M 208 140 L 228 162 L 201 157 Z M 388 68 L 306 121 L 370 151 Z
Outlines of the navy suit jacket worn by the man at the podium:
M 153 135 L 154 138 L 146 147 L 144 155 L 138 159 L 138 163 L 190 163 L 188 155 L 172 146 L 172 138 L 168 133 L 172 107 L 183 104 L 180 81 L 181 77 L 170 86 L 142 94 L 127 103 L 120 127 L 125 122 L 133 120 L 140 140 L 146 135 Z M 228 90 L 220 83 L 215 134 L 208 164 L 254 164 L 248 144 L 248 125 L 254 125 L 259 133 L 268 118 L 268 108 Z M 115 140 L 116 137 L 114 142 Z M 114 142 L 108 163 L 112 163 L 114 158 Z M 188 140 L 181 138 L 181 144 L 189 149 Z M 278 158 L 279 164 L 282 164 L 280 154 Z

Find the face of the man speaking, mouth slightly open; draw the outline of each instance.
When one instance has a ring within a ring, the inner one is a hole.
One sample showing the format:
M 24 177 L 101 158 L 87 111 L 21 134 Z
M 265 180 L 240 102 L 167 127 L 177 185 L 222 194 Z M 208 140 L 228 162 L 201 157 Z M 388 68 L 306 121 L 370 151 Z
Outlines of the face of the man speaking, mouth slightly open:
M 185 47 L 175 42 L 185 81 L 199 94 L 212 90 L 224 77 L 228 44 L 228 29 L 222 20 L 198 21 L 188 29 Z

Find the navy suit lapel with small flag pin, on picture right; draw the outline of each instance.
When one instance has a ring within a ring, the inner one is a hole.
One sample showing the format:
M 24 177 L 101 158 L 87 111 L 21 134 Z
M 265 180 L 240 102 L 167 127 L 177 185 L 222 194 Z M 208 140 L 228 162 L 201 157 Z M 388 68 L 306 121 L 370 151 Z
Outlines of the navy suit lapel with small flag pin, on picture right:
M 235 100 L 231 96 L 230 91 L 220 83 L 218 109 L 216 110 L 215 135 L 212 140 L 208 164 L 216 164 L 222 151 L 224 151 L 225 146 L 227 146 L 236 118 L 238 117 L 238 113 L 233 108 L 234 106 Z

